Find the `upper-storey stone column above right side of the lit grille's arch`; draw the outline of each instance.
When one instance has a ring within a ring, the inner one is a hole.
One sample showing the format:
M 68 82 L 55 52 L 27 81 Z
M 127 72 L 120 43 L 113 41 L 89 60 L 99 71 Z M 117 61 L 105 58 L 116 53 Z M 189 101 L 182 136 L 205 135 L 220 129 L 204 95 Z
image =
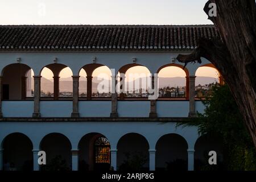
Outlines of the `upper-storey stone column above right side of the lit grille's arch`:
M 110 113 L 111 118 L 117 118 L 117 90 L 115 90 L 115 87 L 117 86 L 117 76 L 111 76 L 112 78 L 112 89 L 111 89 L 111 104 L 112 104 L 112 111 Z

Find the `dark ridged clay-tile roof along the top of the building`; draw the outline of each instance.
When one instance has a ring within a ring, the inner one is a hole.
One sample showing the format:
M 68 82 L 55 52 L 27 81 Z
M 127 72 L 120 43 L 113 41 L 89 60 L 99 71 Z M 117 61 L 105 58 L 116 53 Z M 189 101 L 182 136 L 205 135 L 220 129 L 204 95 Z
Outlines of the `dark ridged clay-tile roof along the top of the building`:
M 219 36 L 212 25 L 0 26 L 0 51 L 172 51 Z

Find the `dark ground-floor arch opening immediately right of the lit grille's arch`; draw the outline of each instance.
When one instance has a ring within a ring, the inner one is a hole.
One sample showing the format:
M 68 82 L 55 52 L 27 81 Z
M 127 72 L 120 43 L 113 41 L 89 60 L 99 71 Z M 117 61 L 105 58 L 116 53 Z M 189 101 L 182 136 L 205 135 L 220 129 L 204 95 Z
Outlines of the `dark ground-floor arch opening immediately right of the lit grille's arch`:
M 148 140 L 141 134 L 128 133 L 117 143 L 117 166 L 120 171 L 148 170 Z M 135 166 L 131 164 L 135 164 Z

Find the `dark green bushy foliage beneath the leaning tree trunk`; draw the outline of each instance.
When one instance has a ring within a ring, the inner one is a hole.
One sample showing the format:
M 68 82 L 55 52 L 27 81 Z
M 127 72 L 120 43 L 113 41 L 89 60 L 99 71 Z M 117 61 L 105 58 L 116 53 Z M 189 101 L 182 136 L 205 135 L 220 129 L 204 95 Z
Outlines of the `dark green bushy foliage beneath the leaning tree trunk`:
M 224 142 L 224 169 L 255 170 L 256 150 L 228 85 L 213 86 L 203 101 L 205 113 L 182 126 L 197 126 L 199 133 L 220 137 Z

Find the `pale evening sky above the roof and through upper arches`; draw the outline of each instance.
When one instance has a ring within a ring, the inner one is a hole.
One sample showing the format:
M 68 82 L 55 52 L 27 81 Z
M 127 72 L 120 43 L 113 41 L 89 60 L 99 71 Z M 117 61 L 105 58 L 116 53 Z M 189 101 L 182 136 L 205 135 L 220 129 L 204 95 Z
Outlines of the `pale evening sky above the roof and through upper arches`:
M 203 11 L 207 0 L 0 0 L 0 24 L 212 24 Z M 134 68 L 129 72 L 147 72 Z M 99 68 L 94 76 L 108 69 Z M 179 68 L 164 69 L 160 76 L 184 76 Z M 60 76 L 69 77 L 64 69 Z M 84 73 L 82 73 L 85 76 Z M 216 77 L 211 68 L 199 76 Z M 52 78 L 45 70 L 44 77 Z

